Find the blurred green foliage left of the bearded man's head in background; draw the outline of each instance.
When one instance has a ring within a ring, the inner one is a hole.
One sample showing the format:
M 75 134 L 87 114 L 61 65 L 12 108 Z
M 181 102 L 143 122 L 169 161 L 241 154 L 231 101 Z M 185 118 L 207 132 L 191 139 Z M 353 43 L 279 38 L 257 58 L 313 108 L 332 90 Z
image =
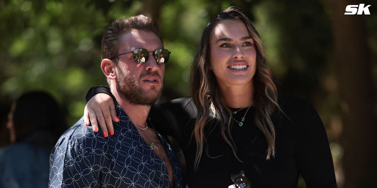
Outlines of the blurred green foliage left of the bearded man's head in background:
M 71 108 L 74 101 L 83 101 L 90 86 L 106 83 L 99 69 L 100 39 L 113 18 L 90 1 L 13 0 L 0 6 L 0 94 L 15 99 L 25 91 L 47 90 L 74 109 L 73 123 L 85 104 Z

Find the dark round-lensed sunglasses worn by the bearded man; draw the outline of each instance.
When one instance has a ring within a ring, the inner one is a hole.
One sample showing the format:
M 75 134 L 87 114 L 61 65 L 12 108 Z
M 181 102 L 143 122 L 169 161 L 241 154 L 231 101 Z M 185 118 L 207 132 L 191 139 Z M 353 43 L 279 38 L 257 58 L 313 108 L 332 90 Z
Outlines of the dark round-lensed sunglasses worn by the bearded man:
M 124 55 L 124 54 L 127 54 L 127 53 L 133 53 L 133 60 L 135 60 L 135 62 L 138 63 L 138 64 L 143 64 L 146 61 L 148 61 L 148 57 L 149 57 L 150 52 L 147 49 L 138 48 L 138 49 L 135 49 L 131 52 L 126 52 L 126 53 L 121 53 L 121 54 L 115 55 L 111 59 L 114 59 L 118 56 L 121 56 L 121 55 Z M 167 50 L 167 49 L 157 49 L 152 53 L 153 53 L 153 56 L 155 57 L 156 62 L 158 64 L 165 64 L 169 61 L 170 53 L 172 53 L 172 52 L 169 52 L 169 50 Z

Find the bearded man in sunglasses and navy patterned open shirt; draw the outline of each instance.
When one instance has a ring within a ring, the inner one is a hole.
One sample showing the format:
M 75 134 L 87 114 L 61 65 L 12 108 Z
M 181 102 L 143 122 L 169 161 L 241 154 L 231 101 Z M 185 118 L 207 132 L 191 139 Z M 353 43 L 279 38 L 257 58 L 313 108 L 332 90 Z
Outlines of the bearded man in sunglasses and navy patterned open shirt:
M 51 153 L 49 187 L 182 187 L 167 139 L 147 118 L 162 91 L 165 67 L 153 58 L 158 50 L 170 53 L 155 20 L 143 15 L 116 20 L 105 31 L 101 69 L 120 121 L 109 131 L 113 136 L 93 132 L 83 118 L 68 129 Z

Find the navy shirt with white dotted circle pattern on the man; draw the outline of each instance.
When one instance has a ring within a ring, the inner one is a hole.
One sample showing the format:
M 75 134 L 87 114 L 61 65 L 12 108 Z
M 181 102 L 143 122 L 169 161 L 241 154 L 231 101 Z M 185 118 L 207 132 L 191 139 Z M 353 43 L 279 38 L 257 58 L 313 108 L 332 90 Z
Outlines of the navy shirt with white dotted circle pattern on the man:
M 120 119 L 114 135 L 93 132 L 81 118 L 59 138 L 50 156 L 49 187 L 170 188 L 164 162 L 144 142 L 130 118 L 115 105 Z M 156 134 L 172 164 L 176 188 L 182 188 L 182 169 L 164 136 Z

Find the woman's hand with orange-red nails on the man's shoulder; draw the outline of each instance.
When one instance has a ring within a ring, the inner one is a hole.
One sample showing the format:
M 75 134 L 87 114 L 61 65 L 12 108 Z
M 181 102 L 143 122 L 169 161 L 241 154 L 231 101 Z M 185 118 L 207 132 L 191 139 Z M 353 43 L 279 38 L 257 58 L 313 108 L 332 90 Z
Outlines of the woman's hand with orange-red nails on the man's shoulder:
M 98 132 L 98 124 L 100 124 L 104 137 L 108 133 L 113 135 L 114 127 L 112 121 L 118 122 L 119 118 L 116 117 L 113 99 L 108 94 L 98 93 L 86 103 L 84 123 L 87 126 L 92 123 L 94 132 Z

